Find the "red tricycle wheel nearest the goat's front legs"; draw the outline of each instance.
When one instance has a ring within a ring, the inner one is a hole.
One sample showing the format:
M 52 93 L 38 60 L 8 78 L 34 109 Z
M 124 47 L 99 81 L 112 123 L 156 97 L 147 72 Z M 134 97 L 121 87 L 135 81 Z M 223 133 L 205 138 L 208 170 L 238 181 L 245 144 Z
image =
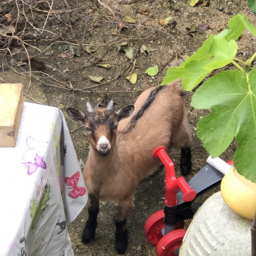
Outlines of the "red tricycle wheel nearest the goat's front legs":
M 145 222 L 144 233 L 151 244 L 157 244 L 163 237 L 161 230 L 165 226 L 164 217 L 164 210 L 160 210 L 152 214 Z M 180 228 L 184 228 L 184 221 L 181 221 L 175 225 L 175 230 Z

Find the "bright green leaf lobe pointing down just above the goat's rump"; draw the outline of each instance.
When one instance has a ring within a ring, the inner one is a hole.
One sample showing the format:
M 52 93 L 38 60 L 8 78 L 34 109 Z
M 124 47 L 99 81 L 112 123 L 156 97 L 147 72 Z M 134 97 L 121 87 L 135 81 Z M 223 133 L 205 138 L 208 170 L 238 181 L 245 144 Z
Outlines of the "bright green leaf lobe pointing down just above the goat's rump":
M 192 60 L 185 66 L 185 72 L 182 79 L 182 89 L 192 90 L 202 79 L 210 74 L 212 70 L 204 69 L 204 66 L 212 63 L 214 60 Z

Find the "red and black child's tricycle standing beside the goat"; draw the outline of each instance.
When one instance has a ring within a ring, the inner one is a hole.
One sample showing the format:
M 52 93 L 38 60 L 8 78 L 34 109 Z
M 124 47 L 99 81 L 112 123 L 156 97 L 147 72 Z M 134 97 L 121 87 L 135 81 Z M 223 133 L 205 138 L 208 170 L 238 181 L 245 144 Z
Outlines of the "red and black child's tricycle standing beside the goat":
M 211 161 L 187 183 L 183 177 L 175 177 L 173 161 L 165 147 L 155 149 L 153 155 L 159 157 L 166 168 L 165 208 L 149 217 L 144 233 L 151 244 L 156 244 L 157 256 L 177 256 L 186 233 L 184 220 L 192 219 L 202 205 L 194 199 L 220 184 L 225 173 L 221 168 L 214 168 Z M 225 164 L 232 165 L 232 162 Z

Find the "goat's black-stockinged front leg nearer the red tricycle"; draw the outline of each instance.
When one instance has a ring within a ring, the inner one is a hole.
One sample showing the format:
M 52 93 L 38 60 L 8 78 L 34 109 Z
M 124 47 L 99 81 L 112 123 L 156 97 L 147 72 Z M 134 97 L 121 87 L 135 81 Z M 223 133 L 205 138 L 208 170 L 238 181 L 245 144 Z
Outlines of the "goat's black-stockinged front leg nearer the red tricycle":
M 118 212 L 115 218 L 115 249 L 119 254 L 125 254 L 128 244 L 126 222 L 129 212 L 134 208 L 134 194 L 125 197 L 118 203 Z

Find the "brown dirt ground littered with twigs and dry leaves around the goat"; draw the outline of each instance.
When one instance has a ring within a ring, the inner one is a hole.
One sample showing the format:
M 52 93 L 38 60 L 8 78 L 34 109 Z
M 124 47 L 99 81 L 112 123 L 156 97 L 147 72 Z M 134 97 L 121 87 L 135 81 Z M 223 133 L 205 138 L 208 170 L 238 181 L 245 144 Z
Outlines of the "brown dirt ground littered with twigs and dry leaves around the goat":
M 20 17 L 15 35 L 27 43 L 25 49 L 30 57 L 37 55 L 34 58 L 43 61 L 46 65 L 45 70 L 32 67 L 29 72 L 28 66 L 17 65 L 27 57 L 23 45 L 17 38 L 11 36 L 0 41 L 0 80 L 6 83 L 23 83 L 26 101 L 59 107 L 65 114 L 77 157 L 84 162 L 89 149 L 86 131 L 83 128 L 77 129 L 79 125 L 66 114 L 67 107 L 84 111 L 87 101 L 96 106 L 106 95 L 114 100 L 116 108 L 134 103 L 141 91 L 161 83 L 170 61 L 175 57 L 175 44 L 170 34 L 177 41 L 178 54 L 191 55 L 209 35 L 217 34 L 226 28 L 228 20 L 236 13 L 246 14 L 250 22 L 256 24 L 256 16 L 247 7 L 246 0 L 209 0 L 207 7 L 191 7 L 188 0 L 137 0 L 132 4 L 127 4 L 127 0 L 102 2 L 107 4 L 109 9 L 99 5 L 97 0 L 54 0 L 53 6 L 52 2 L 47 0 L 38 3 L 36 0 L 18 1 Z M 0 6 L 0 24 L 7 25 L 16 21 L 18 10 L 15 1 L 10 0 Z M 149 16 L 136 12 L 142 9 L 149 9 Z M 39 12 L 40 10 L 42 12 Z M 9 23 L 4 15 L 8 12 L 12 12 L 13 15 Z M 118 30 L 119 35 L 112 35 L 117 24 L 109 21 L 120 22 L 125 15 L 135 18 L 136 24 L 151 28 L 129 26 Z M 169 16 L 174 17 L 176 26 L 162 28 L 158 20 Z M 15 27 L 16 22 L 12 24 Z M 209 24 L 211 30 L 197 29 L 195 33 L 189 33 L 186 28 L 192 24 Z M 169 35 L 152 28 L 163 30 Z M 137 54 L 134 54 L 131 60 L 127 60 L 124 52 L 118 52 L 118 46 L 122 42 L 133 42 Z M 142 45 L 150 45 L 155 51 L 145 56 L 140 53 Z M 77 49 L 77 55 L 80 56 L 69 56 L 70 46 Z M 88 53 L 88 46 L 95 51 Z M 238 42 L 238 47 L 240 58 L 247 60 L 251 53 L 255 52 L 255 38 L 245 32 Z M 36 48 L 45 51 L 40 54 Z M 13 54 L 11 61 L 10 51 L 15 53 L 15 49 L 20 51 Z M 59 57 L 63 53 L 66 54 L 66 58 Z M 105 69 L 97 66 L 101 62 L 108 63 L 111 67 Z M 158 65 L 160 72 L 155 77 L 149 77 L 144 71 L 153 65 Z M 133 68 L 138 74 L 136 84 L 131 84 L 125 79 Z M 89 76 L 105 78 L 99 84 L 91 81 Z M 208 157 L 208 153 L 196 137 L 196 124 L 208 111 L 190 107 L 192 95 L 193 92 L 186 92 L 184 97 L 193 135 L 193 170 L 187 180 L 206 164 Z M 224 160 L 231 159 L 235 149 L 235 145 L 232 144 L 221 157 Z M 179 154 L 179 151 L 170 152 L 178 174 Z M 162 171 L 138 187 L 136 206 L 128 219 L 130 237 L 126 255 L 155 255 L 155 246 L 149 244 L 144 237 L 143 225 L 151 214 L 163 208 L 164 179 L 165 173 Z M 200 200 L 204 201 L 212 193 L 214 191 L 204 195 Z M 116 255 L 113 245 L 116 206 L 112 202 L 101 202 L 100 206 L 96 238 L 91 244 L 84 245 L 81 242 L 81 234 L 87 219 L 86 207 L 69 226 L 75 256 Z

